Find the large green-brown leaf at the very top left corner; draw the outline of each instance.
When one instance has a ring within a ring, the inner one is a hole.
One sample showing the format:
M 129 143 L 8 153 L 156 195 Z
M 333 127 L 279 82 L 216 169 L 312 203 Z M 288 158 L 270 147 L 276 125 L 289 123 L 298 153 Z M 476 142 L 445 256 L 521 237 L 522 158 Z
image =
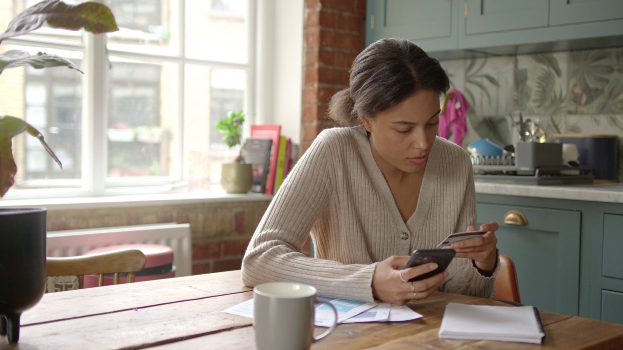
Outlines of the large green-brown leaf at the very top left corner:
M 115 17 L 110 9 L 97 2 L 68 5 L 60 0 L 46 0 L 28 7 L 18 14 L 0 34 L 0 42 L 9 37 L 26 34 L 39 29 L 45 22 L 52 28 L 85 31 L 93 34 L 118 31 Z

